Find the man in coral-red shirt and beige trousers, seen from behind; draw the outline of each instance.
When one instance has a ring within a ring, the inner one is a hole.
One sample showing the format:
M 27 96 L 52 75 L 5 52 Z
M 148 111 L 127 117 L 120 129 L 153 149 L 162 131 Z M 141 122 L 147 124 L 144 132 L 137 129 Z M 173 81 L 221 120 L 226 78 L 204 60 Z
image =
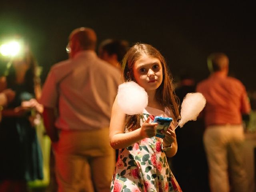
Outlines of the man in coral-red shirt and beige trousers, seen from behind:
M 207 63 L 212 74 L 198 84 L 196 91 L 206 98 L 203 139 L 211 191 L 246 192 L 248 184 L 242 155 L 242 114 L 250 113 L 246 89 L 239 80 L 228 77 L 226 54 L 212 53 Z

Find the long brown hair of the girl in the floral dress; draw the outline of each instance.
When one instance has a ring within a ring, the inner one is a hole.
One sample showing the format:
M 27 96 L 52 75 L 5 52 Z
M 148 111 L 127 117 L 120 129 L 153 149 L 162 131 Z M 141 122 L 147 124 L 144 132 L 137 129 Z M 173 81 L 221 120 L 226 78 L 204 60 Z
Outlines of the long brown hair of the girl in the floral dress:
M 126 82 L 135 81 L 133 74 L 133 66 L 136 60 L 138 60 L 142 54 L 146 54 L 149 57 L 157 58 L 160 60 L 163 68 L 163 81 L 162 84 L 156 90 L 156 98 L 158 102 L 166 107 L 171 114 L 174 121 L 180 117 L 179 112 L 179 100 L 174 93 L 172 86 L 172 76 L 168 70 L 166 61 L 162 54 L 149 44 L 136 43 L 132 48 L 128 50 L 122 60 L 123 76 Z M 126 126 L 128 128 L 139 128 L 140 127 L 140 115 L 127 115 Z

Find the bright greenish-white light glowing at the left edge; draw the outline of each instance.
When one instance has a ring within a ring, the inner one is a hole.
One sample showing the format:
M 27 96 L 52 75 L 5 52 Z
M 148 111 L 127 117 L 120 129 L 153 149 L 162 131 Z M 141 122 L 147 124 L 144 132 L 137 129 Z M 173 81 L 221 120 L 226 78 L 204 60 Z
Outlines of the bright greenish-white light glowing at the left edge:
M 0 53 L 3 56 L 16 56 L 20 52 L 21 46 L 17 41 L 12 41 L 0 46 Z

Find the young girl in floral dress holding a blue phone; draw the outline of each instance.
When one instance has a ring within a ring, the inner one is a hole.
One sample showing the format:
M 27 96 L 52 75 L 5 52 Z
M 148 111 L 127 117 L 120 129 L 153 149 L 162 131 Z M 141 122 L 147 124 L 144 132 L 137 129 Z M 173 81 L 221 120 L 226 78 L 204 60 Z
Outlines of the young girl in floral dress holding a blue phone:
M 110 121 L 110 144 L 119 150 L 112 192 L 180 192 L 167 157 L 177 152 L 174 123 L 179 117 L 176 96 L 163 56 L 148 44 L 135 44 L 123 59 L 124 80 L 134 81 L 148 93 L 144 118 L 126 115 L 115 100 Z M 155 116 L 172 117 L 163 139 L 156 137 Z M 143 122 L 144 121 L 144 122 Z

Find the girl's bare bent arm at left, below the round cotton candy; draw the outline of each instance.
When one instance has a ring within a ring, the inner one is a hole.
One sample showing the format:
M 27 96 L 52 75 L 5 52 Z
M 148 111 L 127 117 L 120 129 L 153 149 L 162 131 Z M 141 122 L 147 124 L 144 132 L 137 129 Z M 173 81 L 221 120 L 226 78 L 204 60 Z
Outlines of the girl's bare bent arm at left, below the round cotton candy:
M 110 145 L 114 149 L 126 148 L 135 142 L 138 142 L 146 137 L 152 137 L 156 134 L 157 123 L 149 123 L 149 118 L 142 124 L 141 128 L 134 131 L 124 133 L 126 114 L 122 112 L 120 106 L 115 99 L 111 120 L 110 120 Z

